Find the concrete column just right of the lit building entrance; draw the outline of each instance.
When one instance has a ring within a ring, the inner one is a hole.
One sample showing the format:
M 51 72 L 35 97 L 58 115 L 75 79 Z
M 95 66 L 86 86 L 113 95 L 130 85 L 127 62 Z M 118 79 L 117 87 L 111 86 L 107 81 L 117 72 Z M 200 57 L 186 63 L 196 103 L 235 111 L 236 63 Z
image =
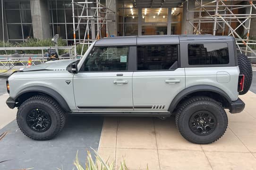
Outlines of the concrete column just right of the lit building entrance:
M 188 1 L 188 4 L 187 4 Z M 182 34 L 193 34 L 193 26 L 188 22 L 189 19 L 194 18 L 194 12 L 190 12 L 188 10 L 191 10 L 195 8 L 195 0 L 186 0 L 183 3 L 183 14 L 182 14 Z M 193 24 L 193 22 L 191 21 Z

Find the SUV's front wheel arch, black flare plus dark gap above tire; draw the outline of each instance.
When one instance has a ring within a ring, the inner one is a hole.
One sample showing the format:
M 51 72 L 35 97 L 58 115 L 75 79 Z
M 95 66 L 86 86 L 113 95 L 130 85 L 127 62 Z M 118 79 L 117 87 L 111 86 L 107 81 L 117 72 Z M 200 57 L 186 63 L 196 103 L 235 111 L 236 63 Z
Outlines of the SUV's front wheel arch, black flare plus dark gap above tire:
M 70 112 L 70 108 L 66 102 L 66 100 L 60 95 L 60 93 L 58 93 L 57 91 L 47 88 L 47 87 L 43 87 L 43 86 L 31 86 L 31 87 L 27 87 L 25 89 L 22 89 L 17 97 L 14 98 L 15 102 L 17 102 L 17 106 L 21 105 L 21 103 L 23 103 L 26 99 L 38 95 L 38 94 L 44 94 L 47 96 L 50 96 L 52 98 L 54 98 L 59 105 L 64 109 L 64 111 L 66 112 Z

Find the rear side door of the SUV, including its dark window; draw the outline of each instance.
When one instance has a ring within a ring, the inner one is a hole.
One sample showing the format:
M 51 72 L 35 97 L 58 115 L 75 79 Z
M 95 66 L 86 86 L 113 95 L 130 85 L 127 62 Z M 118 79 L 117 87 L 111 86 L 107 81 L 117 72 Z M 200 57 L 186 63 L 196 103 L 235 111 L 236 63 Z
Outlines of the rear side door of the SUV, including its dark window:
M 135 111 L 167 112 L 172 99 L 185 89 L 185 69 L 178 68 L 178 45 L 137 46 L 133 74 Z

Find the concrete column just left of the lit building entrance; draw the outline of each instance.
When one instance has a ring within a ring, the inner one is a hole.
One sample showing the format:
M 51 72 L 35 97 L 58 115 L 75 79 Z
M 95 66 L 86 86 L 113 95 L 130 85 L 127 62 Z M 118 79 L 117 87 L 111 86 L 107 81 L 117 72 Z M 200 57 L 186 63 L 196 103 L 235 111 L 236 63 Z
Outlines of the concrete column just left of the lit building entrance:
M 117 3 L 116 3 L 116 0 L 106 0 L 106 6 L 109 7 L 109 14 L 107 14 L 107 18 L 108 19 L 112 19 L 112 20 L 115 20 L 115 16 L 116 14 L 113 13 L 116 12 L 117 10 Z M 108 22 L 108 30 L 109 30 L 109 33 L 111 35 L 114 35 L 114 36 L 117 36 L 117 24 L 116 24 L 116 21 L 107 21 Z

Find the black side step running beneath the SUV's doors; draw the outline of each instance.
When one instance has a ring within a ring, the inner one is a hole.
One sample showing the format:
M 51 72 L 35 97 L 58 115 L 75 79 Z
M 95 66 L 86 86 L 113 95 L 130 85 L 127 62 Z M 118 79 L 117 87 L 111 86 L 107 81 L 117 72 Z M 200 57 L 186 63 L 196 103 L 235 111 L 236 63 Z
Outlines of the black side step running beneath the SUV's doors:
M 138 116 L 138 117 L 170 117 L 170 112 L 71 112 L 69 115 L 87 115 L 87 116 Z

